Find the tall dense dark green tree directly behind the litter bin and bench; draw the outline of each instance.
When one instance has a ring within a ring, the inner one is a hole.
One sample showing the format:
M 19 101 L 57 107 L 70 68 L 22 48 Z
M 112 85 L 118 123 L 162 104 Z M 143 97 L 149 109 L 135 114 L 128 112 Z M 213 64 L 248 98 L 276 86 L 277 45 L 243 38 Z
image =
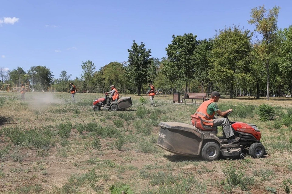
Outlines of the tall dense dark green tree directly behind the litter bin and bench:
M 198 45 L 196 35 L 184 34 L 183 36 L 172 35 L 172 43 L 165 48 L 168 61 L 164 64 L 164 74 L 170 80 L 182 80 L 186 84 L 185 91 L 188 92 L 188 83 L 194 76 L 193 54 Z

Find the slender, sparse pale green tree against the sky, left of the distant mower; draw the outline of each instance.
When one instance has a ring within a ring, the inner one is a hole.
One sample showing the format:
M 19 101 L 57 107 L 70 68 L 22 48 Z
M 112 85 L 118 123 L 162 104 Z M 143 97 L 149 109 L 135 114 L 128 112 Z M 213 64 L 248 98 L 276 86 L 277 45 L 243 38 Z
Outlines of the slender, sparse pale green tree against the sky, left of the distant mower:
M 87 60 L 86 62 L 82 61 L 81 67 L 83 69 L 81 78 L 85 82 L 85 86 L 88 93 L 89 89 L 93 89 L 93 74 L 95 72 L 95 65 L 94 63 L 92 63 L 92 61 Z

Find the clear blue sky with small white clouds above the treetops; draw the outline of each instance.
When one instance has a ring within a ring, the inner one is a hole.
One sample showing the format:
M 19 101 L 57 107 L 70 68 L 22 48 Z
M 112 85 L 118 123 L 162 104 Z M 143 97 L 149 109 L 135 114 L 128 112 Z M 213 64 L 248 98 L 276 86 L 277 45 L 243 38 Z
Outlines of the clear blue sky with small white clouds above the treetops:
M 193 33 L 203 40 L 233 24 L 253 30 L 251 9 L 281 7 L 278 27 L 291 25 L 291 1 L 28 1 L 2 0 L 0 67 L 49 68 L 55 78 L 64 69 L 80 77 L 90 60 L 96 70 L 128 59 L 132 41 L 145 44 L 152 57 L 165 57 L 172 35 Z

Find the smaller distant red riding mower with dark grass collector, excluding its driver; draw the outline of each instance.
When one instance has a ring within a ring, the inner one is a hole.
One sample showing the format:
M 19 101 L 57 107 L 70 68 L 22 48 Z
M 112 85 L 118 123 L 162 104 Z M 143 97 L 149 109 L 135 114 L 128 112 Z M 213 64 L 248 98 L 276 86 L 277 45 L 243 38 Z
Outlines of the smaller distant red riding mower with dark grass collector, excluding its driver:
M 110 105 L 106 105 L 106 96 L 103 98 L 98 98 L 93 101 L 92 108 L 94 111 L 99 110 L 112 110 L 112 111 L 118 111 L 123 110 L 126 108 L 129 108 L 132 106 L 132 99 L 131 97 L 121 97 L 116 99 L 115 101 L 111 101 Z

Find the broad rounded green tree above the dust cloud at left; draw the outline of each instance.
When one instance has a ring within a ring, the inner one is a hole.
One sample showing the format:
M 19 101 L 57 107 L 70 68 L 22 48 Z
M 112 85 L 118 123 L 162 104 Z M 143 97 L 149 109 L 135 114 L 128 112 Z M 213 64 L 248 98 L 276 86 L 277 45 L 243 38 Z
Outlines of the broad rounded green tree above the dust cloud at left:
M 27 75 L 31 78 L 33 75 L 33 89 L 37 91 L 44 90 L 53 84 L 54 75 L 46 66 L 38 65 L 30 67 Z

